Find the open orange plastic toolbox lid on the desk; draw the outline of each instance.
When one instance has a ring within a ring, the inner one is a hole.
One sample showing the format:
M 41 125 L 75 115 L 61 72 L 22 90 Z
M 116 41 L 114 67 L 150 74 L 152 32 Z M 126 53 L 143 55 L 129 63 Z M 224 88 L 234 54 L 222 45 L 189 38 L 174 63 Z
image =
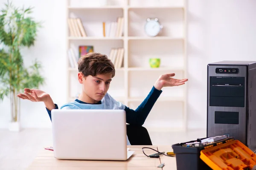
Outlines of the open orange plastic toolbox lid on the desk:
M 256 154 L 238 140 L 205 147 L 200 159 L 213 170 L 256 170 Z

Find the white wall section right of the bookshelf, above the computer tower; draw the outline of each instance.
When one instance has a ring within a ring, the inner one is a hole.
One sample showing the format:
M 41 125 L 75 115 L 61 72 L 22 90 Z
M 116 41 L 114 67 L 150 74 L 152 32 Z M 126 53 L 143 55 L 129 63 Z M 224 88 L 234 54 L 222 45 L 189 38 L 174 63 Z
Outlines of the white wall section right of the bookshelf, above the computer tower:
M 256 61 L 255 0 L 189 0 L 188 123 L 206 128 L 207 64 Z

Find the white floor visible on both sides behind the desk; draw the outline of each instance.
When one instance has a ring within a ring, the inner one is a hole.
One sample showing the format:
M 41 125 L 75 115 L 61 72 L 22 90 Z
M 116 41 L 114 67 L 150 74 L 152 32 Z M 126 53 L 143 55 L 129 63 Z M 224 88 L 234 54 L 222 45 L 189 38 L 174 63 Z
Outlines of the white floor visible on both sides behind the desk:
M 206 137 L 206 130 L 149 132 L 154 145 L 172 145 Z M 0 170 L 24 170 L 43 147 L 52 143 L 51 129 L 25 129 L 19 133 L 0 129 Z

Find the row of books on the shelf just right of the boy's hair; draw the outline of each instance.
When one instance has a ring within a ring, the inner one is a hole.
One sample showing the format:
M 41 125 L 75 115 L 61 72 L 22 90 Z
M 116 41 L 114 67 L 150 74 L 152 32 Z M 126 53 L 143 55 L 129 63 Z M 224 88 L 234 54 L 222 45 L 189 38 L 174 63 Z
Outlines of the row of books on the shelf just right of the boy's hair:
M 124 48 L 111 48 L 108 58 L 113 62 L 115 68 L 121 68 L 124 58 Z

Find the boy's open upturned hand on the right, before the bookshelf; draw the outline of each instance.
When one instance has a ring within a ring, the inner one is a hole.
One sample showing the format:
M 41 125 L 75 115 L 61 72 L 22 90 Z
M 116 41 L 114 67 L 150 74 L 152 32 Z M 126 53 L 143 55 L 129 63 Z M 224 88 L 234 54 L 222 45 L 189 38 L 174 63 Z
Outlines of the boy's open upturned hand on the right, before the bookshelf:
M 154 87 L 161 90 L 163 87 L 183 85 L 188 81 L 188 79 L 174 79 L 173 76 L 175 76 L 175 73 L 161 75 L 155 82 Z

